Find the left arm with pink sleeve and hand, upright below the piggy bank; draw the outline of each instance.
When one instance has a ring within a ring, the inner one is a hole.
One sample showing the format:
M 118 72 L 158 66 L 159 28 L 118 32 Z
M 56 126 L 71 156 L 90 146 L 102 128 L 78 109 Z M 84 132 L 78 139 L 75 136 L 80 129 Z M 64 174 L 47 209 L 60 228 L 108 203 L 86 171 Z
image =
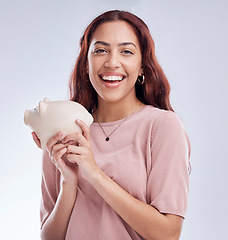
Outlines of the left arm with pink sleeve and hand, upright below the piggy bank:
M 35 133 L 33 133 L 33 139 L 37 146 L 40 147 L 40 142 Z M 55 167 L 61 172 L 63 181 L 61 183 L 61 190 L 56 196 L 56 175 L 54 166 L 47 156 L 47 152 L 44 153 L 43 159 L 43 213 L 45 212 L 48 218 L 45 220 L 42 216 L 41 239 L 65 239 L 69 219 L 74 207 L 76 193 L 77 193 L 77 174 L 78 167 L 76 164 L 70 164 L 65 161 L 66 146 L 67 144 L 61 144 L 59 140 L 61 134 L 56 134 L 51 138 L 48 143 L 49 157 Z M 57 200 L 56 200 L 57 198 Z M 55 202 L 56 201 L 56 202 Z M 45 217 L 46 217 L 45 216 Z

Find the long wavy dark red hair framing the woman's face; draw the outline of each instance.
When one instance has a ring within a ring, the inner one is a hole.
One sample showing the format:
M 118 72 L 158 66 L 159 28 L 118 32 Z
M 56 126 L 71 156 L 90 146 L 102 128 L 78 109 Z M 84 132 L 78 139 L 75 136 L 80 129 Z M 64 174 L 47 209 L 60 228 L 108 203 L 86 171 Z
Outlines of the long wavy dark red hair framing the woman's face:
M 137 98 L 146 105 L 173 111 L 169 96 L 170 84 L 155 56 L 155 44 L 147 25 L 134 14 L 119 10 L 101 14 L 86 28 L 80 40 L 80 53 L 69 81 L 70 100 L 79 102 L 90 113 L 97 108 L 97 93 L 90 83 L 86 71 L 88 50 L 97 27 L 102 23 L 117 20 L 130 24 L 140 43 L 145 82 L 142 85 L 136 82 Z

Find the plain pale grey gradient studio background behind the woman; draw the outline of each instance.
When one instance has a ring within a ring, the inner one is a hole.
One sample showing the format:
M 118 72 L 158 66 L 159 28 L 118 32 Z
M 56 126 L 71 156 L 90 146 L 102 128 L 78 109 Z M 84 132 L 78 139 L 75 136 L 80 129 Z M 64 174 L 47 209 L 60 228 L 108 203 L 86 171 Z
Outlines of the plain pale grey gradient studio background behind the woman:
M 44 97 L 68 97 L 80 36 L 98 14 L 129 10 L 149 26 L 192 143 L 182 240 L 228 239 L 228 1 L 0 0 L 0 235 L 39 239 L 41 151 L 23 123 Z

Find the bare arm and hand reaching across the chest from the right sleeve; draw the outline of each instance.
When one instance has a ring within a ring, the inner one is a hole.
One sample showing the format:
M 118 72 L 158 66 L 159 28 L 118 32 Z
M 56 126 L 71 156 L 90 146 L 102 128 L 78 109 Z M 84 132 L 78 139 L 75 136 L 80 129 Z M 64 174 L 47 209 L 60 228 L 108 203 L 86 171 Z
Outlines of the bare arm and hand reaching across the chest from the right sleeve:
M 145 239 L 178 239 L 183 218 L 171 214 L 161 214 L 154 207 L 132 197 L 105 175 L 94 161 L 89 144 L 88 128 L 80 122 L 78 124 L 83 130 L 83 135 L 75 136 L 80 146 L 68 146 L 67 156 L 69 161 L 78 163 L 82 176 Z

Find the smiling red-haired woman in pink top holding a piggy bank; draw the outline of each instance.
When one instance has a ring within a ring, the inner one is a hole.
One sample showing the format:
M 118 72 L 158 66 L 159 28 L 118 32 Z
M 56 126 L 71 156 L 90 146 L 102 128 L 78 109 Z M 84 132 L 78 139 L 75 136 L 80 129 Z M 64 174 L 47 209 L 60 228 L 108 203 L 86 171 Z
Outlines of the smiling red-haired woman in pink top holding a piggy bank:
M 87 27 L 70 93 L 94 123 L 47 143 L 42 239 L 179 239 L 190 144 L 169 92 L 141 19 L 109 11 Z

